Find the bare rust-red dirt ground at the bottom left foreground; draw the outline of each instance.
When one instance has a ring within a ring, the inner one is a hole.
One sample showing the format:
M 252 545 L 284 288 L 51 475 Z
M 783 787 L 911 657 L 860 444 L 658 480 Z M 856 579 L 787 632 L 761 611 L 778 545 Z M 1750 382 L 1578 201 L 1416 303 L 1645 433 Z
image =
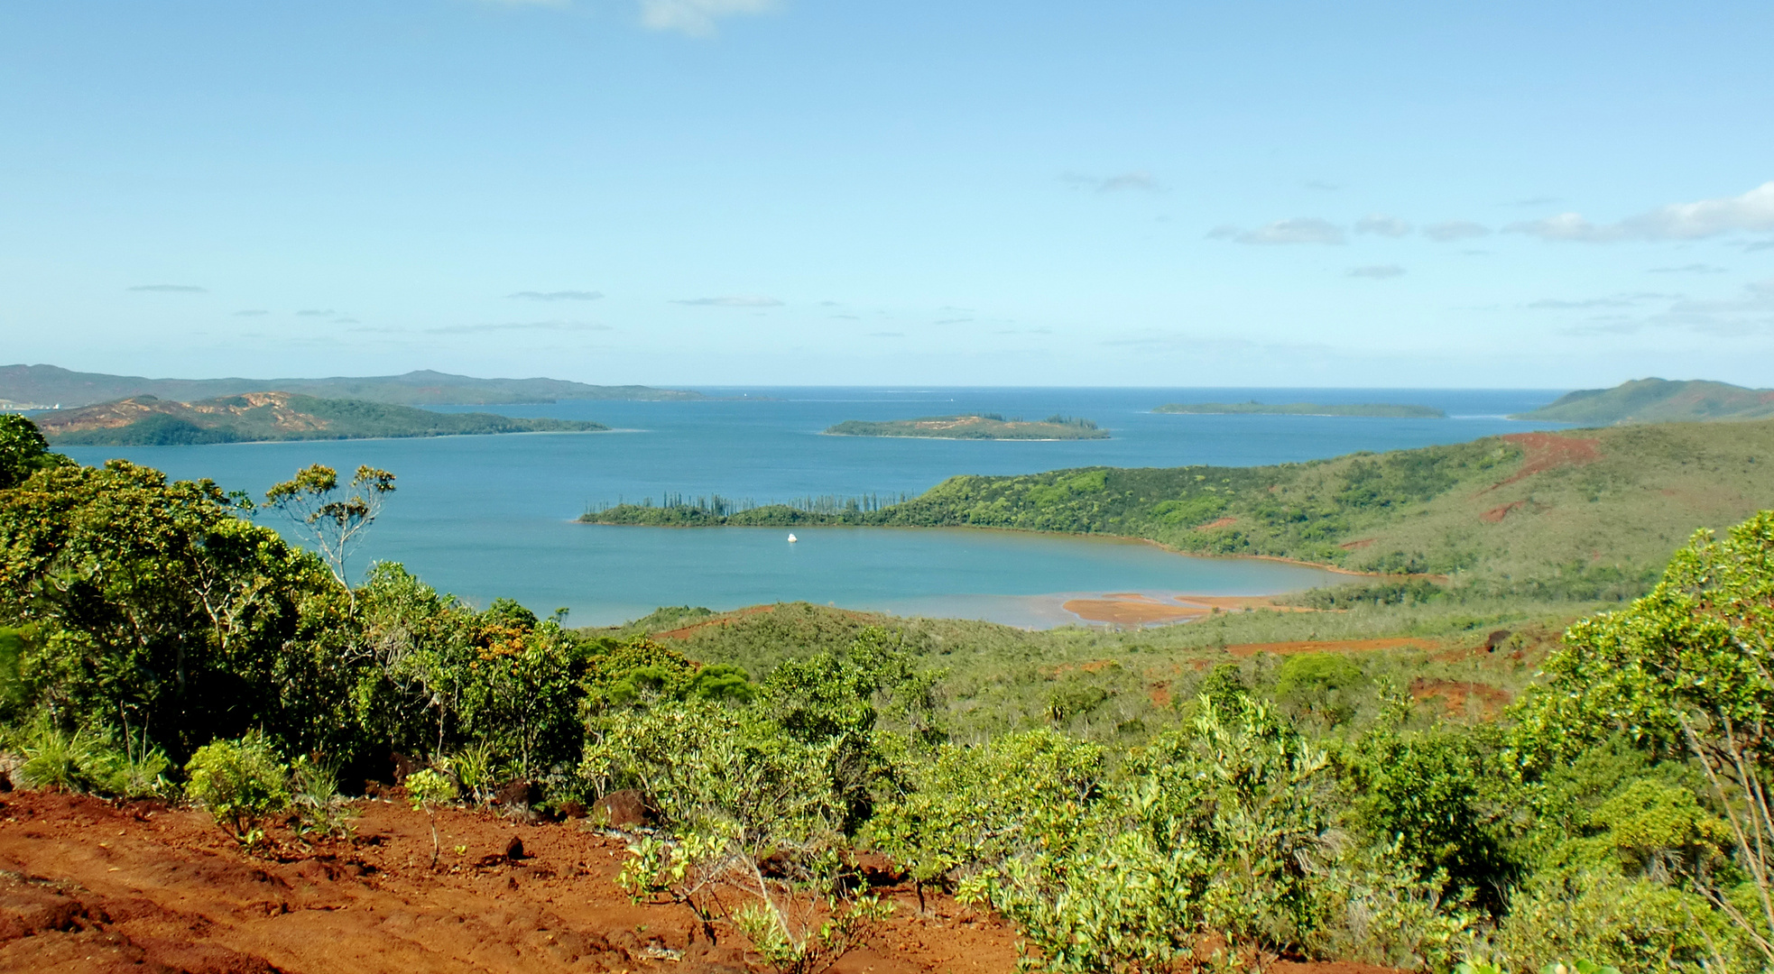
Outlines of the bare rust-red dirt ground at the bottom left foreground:
M 743 937 L 690 910 L 633 905 L 612 878 L 624 843 L 566 825 L 444 811 L 440 871 L 426 816 L 362 802 L 357 844 L 259 859 L 209 816 L 85 797 L 0 795 L 0 970 L 193 974 L 757 970 Z M 279 834 L 282 834 L 279 830 Z M 525 859 L 506 860 L 513 837 Z M 454 846 L 467 846 L 458 855 Z M 1009 972 L 995 917 L 907 887 L 841 974 Z M 649 956 L 651 954 L 651 956 Z M 671 956 L 681 960 L 669 960 Z

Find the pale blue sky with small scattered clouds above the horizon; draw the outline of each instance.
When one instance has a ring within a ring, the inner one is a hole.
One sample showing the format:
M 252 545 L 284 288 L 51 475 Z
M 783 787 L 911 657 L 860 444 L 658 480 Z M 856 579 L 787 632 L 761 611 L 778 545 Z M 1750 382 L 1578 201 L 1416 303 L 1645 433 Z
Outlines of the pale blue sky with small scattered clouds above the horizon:
M 1774 5 L 0 4 L 5 362 L 1774 385 Z

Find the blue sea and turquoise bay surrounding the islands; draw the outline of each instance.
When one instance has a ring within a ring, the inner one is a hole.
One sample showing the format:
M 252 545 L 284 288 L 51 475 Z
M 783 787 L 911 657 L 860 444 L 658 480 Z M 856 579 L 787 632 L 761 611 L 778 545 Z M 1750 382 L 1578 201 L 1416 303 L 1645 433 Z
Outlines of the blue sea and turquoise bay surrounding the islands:
M 708 389 L 701 403 L 472 406 L 594 419 L 612 433 L 335 440 L 200 447 L 71 447 L 82 463 L 124 456 L 174 477 L 264 491 L 309 463 L 369 463 L 399 490 L 355 568 L 399 561 L 442 591 L 484 605 L 610 624 L 660 605 L 736 609 L 807 600 L 1024 626 L 1077 621 L 1064 598 L 1102 593 L 1270 594 L 1330 573 L 1245 559 L 1197 559 L 1151 545 L 969 529 L 644 529 L 575 523 L 589 506 L 667 493 L 754 502 L 921 493 L 954 474 L 1066 467 L 1261 465 L 1456 444 L 1549 429 L 1504 419 L 1561 390 L 1409 389 Z M 1412 403 L 1449 419 L 1162 415 L 1162 403 Z M 1096 420 L 1111 440 L 977 442 L 821 436 L 846 419 L 995 412 Z M 266 523 L 277 525 L 275 518 Z

